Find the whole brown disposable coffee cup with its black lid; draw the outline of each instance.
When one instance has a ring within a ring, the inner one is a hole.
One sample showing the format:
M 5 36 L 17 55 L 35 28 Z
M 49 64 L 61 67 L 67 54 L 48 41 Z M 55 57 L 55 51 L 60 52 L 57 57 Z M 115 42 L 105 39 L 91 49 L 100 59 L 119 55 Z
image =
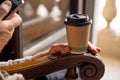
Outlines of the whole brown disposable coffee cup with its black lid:
M 66 33 L 70 52 L 87 52 L 92 20 L 86 14 L 71 14 L 65 19 Z

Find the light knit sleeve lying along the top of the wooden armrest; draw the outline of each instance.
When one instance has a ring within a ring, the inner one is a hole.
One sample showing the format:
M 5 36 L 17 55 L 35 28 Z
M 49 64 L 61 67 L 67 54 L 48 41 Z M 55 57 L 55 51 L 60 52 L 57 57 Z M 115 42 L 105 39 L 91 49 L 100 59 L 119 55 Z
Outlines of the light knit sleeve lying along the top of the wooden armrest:
M 14 64 L 19 64 L 19 63 L 30 61 L 31 59 L 32 59 L 32 56 L 27 56 L 27 57 L 24 57 L 21 59 L 8 60 L 7 62 L 2 61 L 2 62 L 0 62 L 0 66 L 4 67 L 4 66 L 10 66 L 10 65 L 14 65 Z

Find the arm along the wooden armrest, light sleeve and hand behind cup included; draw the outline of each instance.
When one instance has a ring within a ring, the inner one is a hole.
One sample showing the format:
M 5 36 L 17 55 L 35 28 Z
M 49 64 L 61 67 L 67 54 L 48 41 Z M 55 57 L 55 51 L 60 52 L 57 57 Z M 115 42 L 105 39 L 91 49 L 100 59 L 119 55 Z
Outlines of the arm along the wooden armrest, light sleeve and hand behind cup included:
M 88 44 L 89 44 L 88 49 L 92 51 L 94 54 L 97 54 L 101 51 L 100 48 L 93 46 L 90 42 Z M 64 54 L 69 51 L 70 49 L 67 44 L 63 44 L 63 43 L 54 44 L 50 49 L 42 51 L 42 52 L 38 52 L 33 56 L 27 56 L 27 57 L 24 57 L 21 59 L 15 59 L 15 60 L 8 60 L 7 62 L 0 62 L 0 66 L 10 66 L 10 65 L 18 64 L 18 63 L 27 62 L 33 59 L 38 59 L 43 56 L 55 54 L 57 52 Z

